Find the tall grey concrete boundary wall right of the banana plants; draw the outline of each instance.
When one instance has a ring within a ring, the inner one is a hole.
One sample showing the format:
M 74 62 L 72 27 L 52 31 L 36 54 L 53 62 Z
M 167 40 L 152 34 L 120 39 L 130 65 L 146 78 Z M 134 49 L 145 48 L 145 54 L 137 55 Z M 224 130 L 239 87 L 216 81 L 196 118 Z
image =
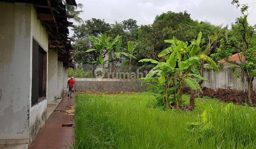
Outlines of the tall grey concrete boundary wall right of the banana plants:
M 240 78 L 234 77 L 234 72 L 228 68 L 223 68 L 220 72 L 204 71 L 204 77 L 210 82 L 203 82 L 204 87 L 218 89 L 232 87 L 237 90 L 247 90 L 248 83 L 245 81 L 245 75 L 240 71 Z M 256 78 L 253 82 L 253 88 L 256 90 Z

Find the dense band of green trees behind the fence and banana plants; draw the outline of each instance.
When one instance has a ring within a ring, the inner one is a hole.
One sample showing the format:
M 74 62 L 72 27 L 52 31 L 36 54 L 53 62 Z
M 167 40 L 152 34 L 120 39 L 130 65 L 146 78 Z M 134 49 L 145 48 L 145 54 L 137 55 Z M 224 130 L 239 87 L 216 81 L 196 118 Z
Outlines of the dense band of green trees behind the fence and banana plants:
M 137 44 L 134 49 L 134 56 L 137 59 L 150 58 L 160 60 L 158 54 L 169 45 L 164 43 L 165 39 L 176 37 L 179 40 L 190 43 L 196 38 L 199 31 L 202 34 L 201 49 L 204 51 L 209 43 L 209 36 L 218 34 L 220 26 L 214 26 L 209 22 L 197 22 L 191 19 L 190 14 L 185 12 L 166 12 L 156 16 L 153 24 L 138 26 L 137 21 L 133 19 L 124 20 L 121 23 L 114 24 L 106 23 L 104 20 L 92 18 L 85 21 L 85 24 L 76 26 L 73 31 L 75 38 L 74 46 L 76 46 L 74 57 L 75 62 L 90 63 L 90 60 L 96 60 L 98 55 L 84 53 L 88 49 L 94 49 L 93 44 L 88 40 L 87 35 L 102 35 L 107 33 L 110 40 L 114 40 L 117 35 L 122 36 L 122 47 L 127 49 L 127 42 L 133 41 Z M 81 41 L 82 40 L 82 41 Z M 85 45 L 82 46 L 81 43 Z M 211 53 L 214 53 L 218 48 L 218 44 L 214 46 Z M 83 56 L 80 56 L 83 55 Z M 83 58 L 84 57 L 84 58 Z M 142 65 L 137 59 L 132 59 L 132 64 Z

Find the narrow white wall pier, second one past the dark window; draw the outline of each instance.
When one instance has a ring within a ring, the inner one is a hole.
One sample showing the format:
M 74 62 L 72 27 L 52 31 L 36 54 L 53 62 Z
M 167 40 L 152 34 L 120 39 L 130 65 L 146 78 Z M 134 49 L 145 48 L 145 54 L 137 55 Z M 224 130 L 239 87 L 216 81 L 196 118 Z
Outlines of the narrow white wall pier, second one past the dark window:
M 57 98 L 62 98 L 63 90 L 63 62 L 58 61 L 57 68 Z

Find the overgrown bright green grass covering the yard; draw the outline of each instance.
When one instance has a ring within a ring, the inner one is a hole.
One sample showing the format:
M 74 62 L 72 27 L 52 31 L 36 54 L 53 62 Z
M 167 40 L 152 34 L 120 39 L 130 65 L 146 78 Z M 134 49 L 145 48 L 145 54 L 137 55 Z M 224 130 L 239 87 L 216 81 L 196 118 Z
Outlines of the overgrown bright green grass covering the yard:
M 189 96 L 183 99 L 188 104 Z M 227 110 L 204 97 L 192 112 L 163 110 L 151 92 L 81 94 L 75 100 L 75 148 L 256 148 L 254 107 Z M 201 116 L 204 104 L 214 109 L 208 123 Z

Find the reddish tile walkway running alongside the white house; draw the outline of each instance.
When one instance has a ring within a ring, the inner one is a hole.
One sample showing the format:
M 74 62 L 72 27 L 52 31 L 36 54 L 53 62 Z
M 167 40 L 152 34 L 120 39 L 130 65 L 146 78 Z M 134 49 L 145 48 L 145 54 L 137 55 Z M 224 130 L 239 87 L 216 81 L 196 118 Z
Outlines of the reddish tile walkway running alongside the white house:
M 65 149 L 69 148 L 66 142 L 74 144 L 73 127 L 62 127 L 62 125 L 74 124 L 74 115 L 65 114 L 74 103 L 74 98 L 67 98 L 67 95 L 63 97 L 34 139 L 30 149 Z

